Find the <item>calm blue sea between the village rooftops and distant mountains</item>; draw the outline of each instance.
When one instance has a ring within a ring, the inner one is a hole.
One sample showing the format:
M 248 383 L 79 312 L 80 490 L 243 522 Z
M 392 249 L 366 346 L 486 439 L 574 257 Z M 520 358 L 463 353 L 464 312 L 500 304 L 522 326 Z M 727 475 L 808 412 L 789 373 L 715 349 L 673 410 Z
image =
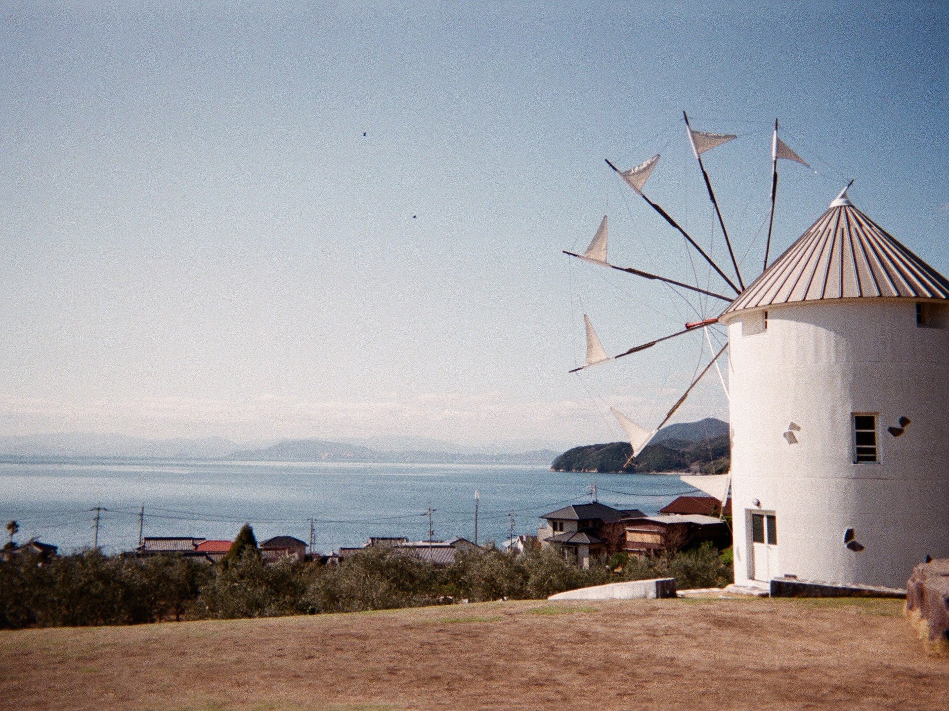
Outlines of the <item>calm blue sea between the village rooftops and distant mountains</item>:
M 231 538 L 250 521 L 257 539 L 309 539 L 317 550 L 369 536 L 428 538 L 425 509 L 435 509 L 436 538 L 474 537 L 474 490 L 480 491 L 478 538 L 537 533 L 538 517 L 590 501 L 596 483 L 608 505 L 655 513 L 695 491 L 674 476 L 565 474 L 528 465 L 374 465 L 288 462 L 194 462 L 160 459 L 0 459 L 0 521 L 17 520 L 31 536 L 64 551 L 91 546 L 97 505 L 99 544 L 130 550 L 145 536 Z

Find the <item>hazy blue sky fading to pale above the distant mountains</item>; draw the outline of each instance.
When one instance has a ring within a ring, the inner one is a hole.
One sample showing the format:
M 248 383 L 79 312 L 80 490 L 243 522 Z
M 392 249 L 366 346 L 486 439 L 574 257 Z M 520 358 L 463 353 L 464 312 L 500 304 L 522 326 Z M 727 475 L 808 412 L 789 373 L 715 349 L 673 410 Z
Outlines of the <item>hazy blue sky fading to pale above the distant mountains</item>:
M 775 117 L 817 171 L 782 163 L 775 254 L 855 178 L 949 272 L 945 3 L 65 6 L 0 9 L 0 434 L 655 425 L 701 337 L 581 381 L 582 314 L 615 353 L 720 306 L 561 250 L 608 213 L 615 262 L 694 279 L 603 161 L 661 153 L 647 193 L 724 264 L 682 109 L 739 134 L 705 157 L 746 281 Z M 709 378 L 677 419 L 726 412 Z

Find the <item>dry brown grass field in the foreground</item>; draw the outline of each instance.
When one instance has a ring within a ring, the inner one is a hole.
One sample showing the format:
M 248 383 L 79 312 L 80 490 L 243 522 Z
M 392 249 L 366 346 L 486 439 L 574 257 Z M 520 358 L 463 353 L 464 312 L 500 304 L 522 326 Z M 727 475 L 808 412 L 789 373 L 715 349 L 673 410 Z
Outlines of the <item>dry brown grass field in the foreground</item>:
M 503 602 L 0 632 L 0 708 L 940 709 L 894 600 Z

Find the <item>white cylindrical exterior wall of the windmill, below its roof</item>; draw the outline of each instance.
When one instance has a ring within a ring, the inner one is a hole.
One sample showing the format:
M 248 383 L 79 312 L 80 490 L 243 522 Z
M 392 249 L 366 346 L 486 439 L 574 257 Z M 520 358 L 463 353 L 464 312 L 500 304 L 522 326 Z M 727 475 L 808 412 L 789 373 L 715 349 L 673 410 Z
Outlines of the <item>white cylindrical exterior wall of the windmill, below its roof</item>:
M 949 330 L 919 328 L 915 304 L 772 305 L 767 330 L 749 336 L 743 321 L 754 331 L 759 312 L 722 319 L 735 582 L 754 575 L 750 511 L 776 514 L 776 574 L 902 588 L 927 554 L 949 556 Z M 854 464 L 854 412 L 877 414 L 878 464 Z M 900 417 L 912 423 L 893 437 Z M 847 550 L 847 528 L 864 551 Z

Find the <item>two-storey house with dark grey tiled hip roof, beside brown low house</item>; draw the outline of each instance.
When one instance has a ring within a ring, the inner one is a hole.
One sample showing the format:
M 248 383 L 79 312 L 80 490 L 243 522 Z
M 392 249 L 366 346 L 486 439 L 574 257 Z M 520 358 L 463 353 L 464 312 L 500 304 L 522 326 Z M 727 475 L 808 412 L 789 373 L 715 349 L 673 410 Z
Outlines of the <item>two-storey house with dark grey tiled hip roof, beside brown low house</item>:
M 623 519 L 642 517 L 639 509 L 615 509 L 599 501 L 566 506 L 541 519 L 537 530 L 541 547 L 558 546 L 568 560 L 588 568 L 590 558 L 623 549 Z

